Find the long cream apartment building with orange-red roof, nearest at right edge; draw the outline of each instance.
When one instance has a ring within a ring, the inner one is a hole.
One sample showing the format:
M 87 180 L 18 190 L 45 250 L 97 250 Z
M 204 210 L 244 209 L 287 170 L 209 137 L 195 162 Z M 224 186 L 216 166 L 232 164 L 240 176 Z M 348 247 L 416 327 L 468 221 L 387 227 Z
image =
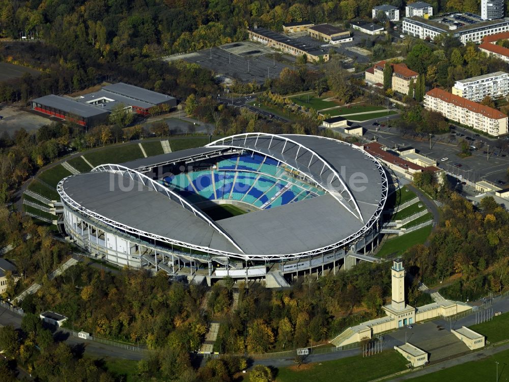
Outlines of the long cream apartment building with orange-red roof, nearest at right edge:
M 432 89 L 424 97 L 424 106 L 445 118 L 487 132 L 494 137 L 507 133 L 507 116 L 498 110 L 469 99 Z

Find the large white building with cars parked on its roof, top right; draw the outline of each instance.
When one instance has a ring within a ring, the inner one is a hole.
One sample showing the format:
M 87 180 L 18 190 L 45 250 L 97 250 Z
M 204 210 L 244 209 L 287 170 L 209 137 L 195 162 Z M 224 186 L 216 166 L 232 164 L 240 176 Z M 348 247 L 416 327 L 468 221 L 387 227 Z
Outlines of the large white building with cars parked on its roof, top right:
M 484 21 L 472 13 L 446 14 L 433 20 L 417 16 L 403 18 L 403 33 L 422 40 L 433 41 L 441 34 L 451 34 L 462 44 L 480 43 L 485 36 L 507 31 L 509 18 Z

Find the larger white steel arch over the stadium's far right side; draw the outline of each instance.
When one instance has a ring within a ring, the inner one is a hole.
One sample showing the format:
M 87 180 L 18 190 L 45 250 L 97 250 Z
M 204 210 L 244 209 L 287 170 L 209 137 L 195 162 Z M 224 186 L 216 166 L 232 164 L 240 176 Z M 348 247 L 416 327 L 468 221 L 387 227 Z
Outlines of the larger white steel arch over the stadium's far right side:
M 295 134 L 293 134 L 293 135 L 295 135 Z M 337 171 L 330 165 L 330 163 L 328 161 L 326 161 L 318 153 L 316 153 L 314 150 L 309 149 L 308 147 L 306 147 L 306 146 L 304 146 L 304 145 L 302 145 L 302 144 L 300 144 L 300 143 L 298 143 L 298 142 L 296 142 L 296 141 L 294 141 L 292 139 L 289 139 L 289 138 L 285 137 L 284 135 L 270 134 L 270 133 L 263 133 L 263 132 L 247 132 L 247 133 L 230 135 L 230 137 L 225 137 L 225 138 L 218 139 L 218 140 L 216 140 L 214 142 L 209 143 L 208 145 L 206 145 L 206 147 L 224 146 L 224 147 L 243 148 L 243 149 L 248 149 L 248 150 L 251 150 L 251 151 L 256 151 L 256 152 L 258 152 L 260 154 L 270 156 L 271 158 L 273 158 L 275 160 L 282 161 L 282 160 L 280 160 L 280 158 L 276 158 L 276 157 L 274 157 L 272 155 L 269 155 L 269 154 L 267 154 L 267 153 L 265 153 L 263 151 L 256 150 L 256 149 L 254 149 L 252 147 L 244 147 L 244 146 L 234 145 L 234 143 L 233 143 L 234 139 L 238 139 L 238 138 L 242 138 L 242 137 L 244 137 L 244 143 L 247 141 L 247 138 L 254 138 L 254 137 L 256 137 L 257 138 L 256 142 L 258 142 L 258 138 L 259 137 L 270 137 L 271 141 L 270 141 L 269 147 L 268 147 L 269 150 L 270 150 L 270 145 L 272 143 L 272 139 L 274 137 L 276 137 L 277 139 L 281 139 L 281 140 L 285 141 L 285 146 L 283 147 L 281 154 L 284 154 L 284 151 L 285 151 L 285 148 L 286 148 L 286 144 L 287 144 L 287 142 L 290 142 L 290 143 L 298 146 L 299 147 L 298 150 L 300 150 L 302 148 L 303 150 L 309 152 L 312 155 L 312 160 L 313 160 L 314 157 L 319 159 L 323 163 L 324 168 L 326 167 L 334 175 L 334 178 L 337 179 L 341 183 L 341 185 L 343 186 L 343 191 L 340 191 L 339 195 L 338 195 L 336 193 L 332 193 L 330 188 L 328 188 L 328 187 L 327 188 L 324 187 L 324 188 L 328 190 L 329 194 L 332 195 L 332 197 L 334 199 L 336 199 L 338 201 L 338 203 L 343 205 L 350 213 L 352 213 L 355 217 L 357 217 L 357 219 L 359 219 L 360 221 L 363 222 L 362 213 L 360 212 L 360 208 L 359 208 L 359 206 L 357 204 L 357 201 L 353 197 L 353 195 L 350 192 L 350 189 L 348 188 L 346 183 L 343 181 L 343 179 L 337 173 Z M 231 143 L 229 144 L 229 143 L 227 143 L 227 141 L 231 141 Z M 254 147 L 256 147 L 256 142 L 254 144 Z M 222 145 L 220 145 L 219 143 L 222 143 Z M 297 151 L 297 155 L 298 155 L 298 151 Z M 290 165 L 290 163 L 287 163 L 285 161 L 282 161 L 282 162 L 285 163 L 287 166 L 290 166 L 290 167 L 294 168 L 292 165 Z M 302 170 L 300 170 L 300 169 L 296 169 L 296 170 L 302 172 Z M 312 178 L 315 182 L 320 184 L 320 182 L 318 182 L 312 176 L 310 178 Z M 322 187 L 323 187 L 323 184 L 322 184 Z M 348 194 L 348 198 L 346 198 L 343 195 L 343 192 L 346 192 Z M 347 203 L 345 204 L 343 200 L 345 200 Z

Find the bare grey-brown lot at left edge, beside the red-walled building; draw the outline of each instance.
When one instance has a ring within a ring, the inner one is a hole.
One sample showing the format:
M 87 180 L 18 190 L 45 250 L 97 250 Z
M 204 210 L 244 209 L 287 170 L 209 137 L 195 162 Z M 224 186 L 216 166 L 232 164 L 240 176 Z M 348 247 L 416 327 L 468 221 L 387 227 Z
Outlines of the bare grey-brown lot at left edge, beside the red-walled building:
M 16 106 L 0 106 L 0 133 L 7 131 L 11 137 L 14 131 L 24 128 L 28 132 L 36 131 L 43 125 L 50 124 L 56 119 L 49 119 L 35 112 L 27 112 Z

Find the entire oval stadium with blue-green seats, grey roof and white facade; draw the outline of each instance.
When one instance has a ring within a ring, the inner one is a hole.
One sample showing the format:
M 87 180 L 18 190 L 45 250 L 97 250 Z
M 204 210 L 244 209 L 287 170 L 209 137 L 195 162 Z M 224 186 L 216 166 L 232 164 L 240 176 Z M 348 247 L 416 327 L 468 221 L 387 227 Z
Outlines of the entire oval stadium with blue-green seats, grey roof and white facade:
M 373 250 L 388 177 L 346 142 L 244 133 L 101 165 L 57 189 L 67 239 L 94 257 L 209 285 L 230 276 L 285 286 Z

